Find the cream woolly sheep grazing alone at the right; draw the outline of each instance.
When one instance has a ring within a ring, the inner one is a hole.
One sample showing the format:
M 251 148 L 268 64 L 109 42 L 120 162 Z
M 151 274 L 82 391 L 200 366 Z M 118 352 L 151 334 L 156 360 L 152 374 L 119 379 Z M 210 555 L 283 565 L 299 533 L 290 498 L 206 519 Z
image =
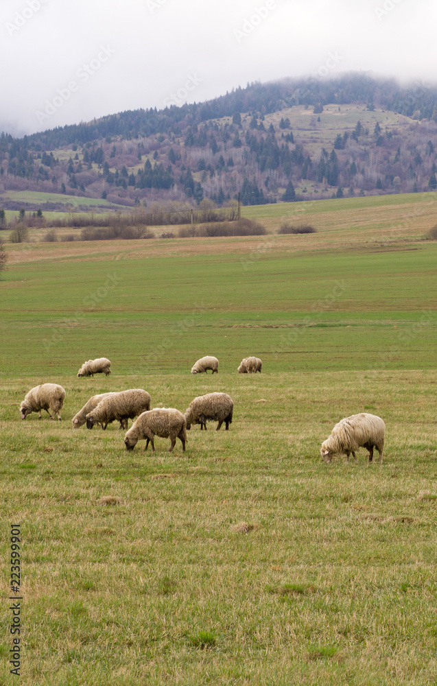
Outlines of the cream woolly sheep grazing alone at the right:
M 331 462 L 335 453 L 346 453 L 349 460 L 351 453 L 355 458 L 355 450 L 360 446 L 368 450 L 368 461 L 373 460 L 373 447 L 379 452 L 379 462 L 382 462 L 384 435 L 386 425 L 381 417 L 375 414 L 353 414 L 335 424 L 331 436 L 322 442 L 320 453 L 325 462 Z

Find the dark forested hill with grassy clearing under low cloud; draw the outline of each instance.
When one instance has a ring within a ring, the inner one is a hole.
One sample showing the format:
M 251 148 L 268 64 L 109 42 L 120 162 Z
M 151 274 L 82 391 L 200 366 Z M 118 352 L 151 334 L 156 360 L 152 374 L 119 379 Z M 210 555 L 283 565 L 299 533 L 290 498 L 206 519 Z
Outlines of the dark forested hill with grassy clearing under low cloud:
M 20 189 L 127 205 L 434 190 L 436 122 L 437 86 L 401 88 L 362 73 L 253 83 L 201 104 L 23 139 L 5 132 L 0 204 Z

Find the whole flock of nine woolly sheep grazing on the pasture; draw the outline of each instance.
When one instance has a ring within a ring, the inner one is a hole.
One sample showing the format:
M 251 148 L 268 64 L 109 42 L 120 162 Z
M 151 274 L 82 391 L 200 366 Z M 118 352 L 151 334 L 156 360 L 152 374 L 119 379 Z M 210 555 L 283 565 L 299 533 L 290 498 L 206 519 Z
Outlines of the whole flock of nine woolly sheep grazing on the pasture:
M 78 372 L 78 377 L 93 376 L 94 374 L 110 374 L 110 360 L 106 357 L 88 359 Z M 240 374 L 261 372 L 262 362 L 259 357 L 245 357 L 237 371 Z M 192 374 L 206 373 L 211 370 L 218 374 L 217 357 L 206 356 L 198 359 L 191 368 Z M 64 404 L 65 390 L 57 383 L 43 383 L 29 390 L 21 403 L 21 418 L 25 419 L 32 412 L 45 410 L 51 419 L 58 415 Z M 174 408 L 155 407 L 150 410 L 150 394 L 141 388 L 134 388 L 121 392 L 108 392 L 91 397 L 88 402 L 72 419 L 73 429 L 78 429 L 86 423 L 88 429 L 98 424 L 106 429 L 108 424 L 119 421 L 120 429 L 128 429 L 128 419 L 137 419 L 132 427 L 126 431 L 124 444 L 126 450 L 133 450 L 137 442 L 145 439 L 145 450 L 152 445 L 154 451 L 154 436 L 170 438 L 169 452 L 176 445 L 176 438 L 182 443 L 182 451 L 185 451 L 187 429 L 191 425 L 200 424 L 200 430 L 206 430 L 207 421 L 217 421 L 218 431 L 223 423 L 226 430 L 232 423 L 234 403 L 227 393 L 207 393 L 191 401 L 185 414 Z M 351 453 L 355 458 L 355 451 L 359 447 L 368 450 L 368 460 L 373 460 L 373 449 L 376 447 L 379 453 L 379 462 L 382 462 L 384 436 L 386 425 L 381 417 L 374 414 L 353 414 L 342 419 L 333 427 L 331 436 L 324 440 L 320 453 L 325 462 L 331 462 L 336 454 L 346 453 L 349 460 Z

